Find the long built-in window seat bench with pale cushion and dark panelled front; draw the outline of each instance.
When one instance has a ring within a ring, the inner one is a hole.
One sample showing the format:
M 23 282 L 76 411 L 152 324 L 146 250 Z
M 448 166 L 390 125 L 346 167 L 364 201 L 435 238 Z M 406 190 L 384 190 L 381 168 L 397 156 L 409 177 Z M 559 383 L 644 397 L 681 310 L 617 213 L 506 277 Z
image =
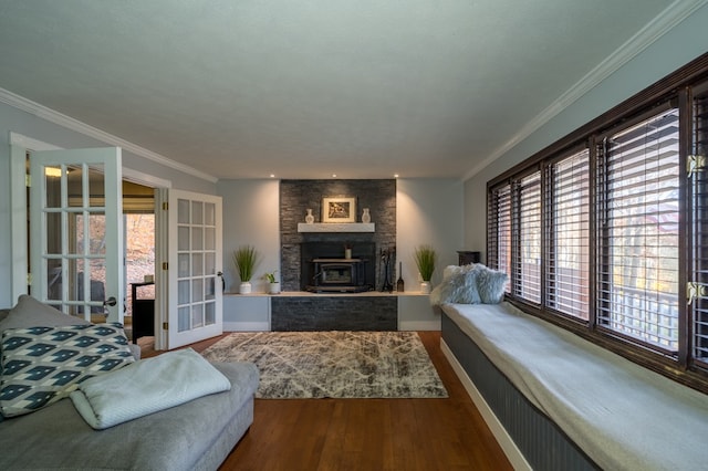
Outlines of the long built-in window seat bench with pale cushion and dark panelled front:
M 442 350 L 514 468 L 708 465 L 707 395 L 509 303 L 441 310 Z

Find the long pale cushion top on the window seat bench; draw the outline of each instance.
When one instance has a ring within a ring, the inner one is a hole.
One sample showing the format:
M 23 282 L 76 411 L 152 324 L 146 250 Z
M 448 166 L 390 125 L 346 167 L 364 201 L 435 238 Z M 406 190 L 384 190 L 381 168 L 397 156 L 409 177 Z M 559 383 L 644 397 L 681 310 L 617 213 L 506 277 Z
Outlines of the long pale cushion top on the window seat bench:
M 707 395 L 508 303 L 442 308 L 601 468 L 706 469 Z

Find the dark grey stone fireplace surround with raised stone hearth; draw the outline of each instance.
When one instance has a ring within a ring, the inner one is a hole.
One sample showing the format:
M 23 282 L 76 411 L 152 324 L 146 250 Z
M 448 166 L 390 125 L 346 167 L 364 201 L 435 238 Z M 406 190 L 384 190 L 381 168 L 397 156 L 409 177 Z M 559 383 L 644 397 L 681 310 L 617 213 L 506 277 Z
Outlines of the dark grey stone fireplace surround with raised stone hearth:
M 375 232 L 299 232 L 298 223 L 305 221 L 308 208 L 312 209 L 314 222 L 322 222 L 322 198 L 325 197 L 356 198 L 356 222 L 362 221 L 363 209 L 369 208 Z M 281 180 L 280 240 L 283 293 L 271 300 L 271 329 L 397 328 L 397 300 L 388 293 L 288 295 L 288 292 L 303 291 L 308 284 L 303 280 L 302 264 L 310 262 L 303 260 L 302 248 L 317 244 L 331 250 L 333 257 L 339 252 L 339 257 L 344 258 L 344 247 L 348 245 L 352 257 L 372 258 L 369 275 L 373 276 L 374 291 L 381 289 L 381 252 L 395 251 L 396 245 L 396 180 Z M 392 266 L 395 266 L 395 257 Z

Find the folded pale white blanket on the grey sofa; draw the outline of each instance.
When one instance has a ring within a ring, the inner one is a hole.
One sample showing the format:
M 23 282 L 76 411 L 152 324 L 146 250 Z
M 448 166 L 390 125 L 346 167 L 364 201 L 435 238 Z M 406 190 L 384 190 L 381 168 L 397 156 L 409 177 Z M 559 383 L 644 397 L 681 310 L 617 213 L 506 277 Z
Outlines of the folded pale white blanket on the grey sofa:
M 101 430 L 230 388 L 226 376 L 188 348 L 90 378 L 70 397 L 84 420 Z

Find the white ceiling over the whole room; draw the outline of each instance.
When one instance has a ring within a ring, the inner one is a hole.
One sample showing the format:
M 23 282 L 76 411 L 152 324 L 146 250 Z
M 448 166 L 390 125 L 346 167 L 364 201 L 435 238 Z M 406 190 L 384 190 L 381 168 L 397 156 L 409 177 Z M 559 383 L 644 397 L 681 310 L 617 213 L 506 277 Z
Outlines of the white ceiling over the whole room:
M 464 178 L 686 3 L 0 0 L 0 87 L 218 178 Z

